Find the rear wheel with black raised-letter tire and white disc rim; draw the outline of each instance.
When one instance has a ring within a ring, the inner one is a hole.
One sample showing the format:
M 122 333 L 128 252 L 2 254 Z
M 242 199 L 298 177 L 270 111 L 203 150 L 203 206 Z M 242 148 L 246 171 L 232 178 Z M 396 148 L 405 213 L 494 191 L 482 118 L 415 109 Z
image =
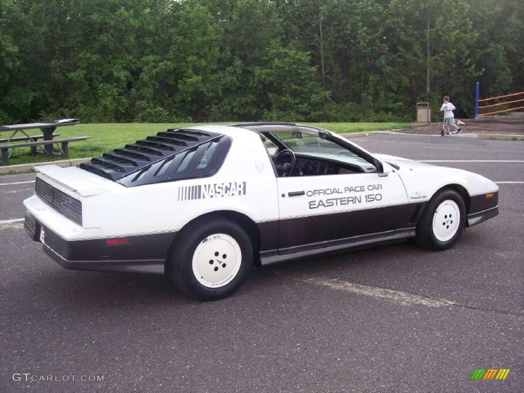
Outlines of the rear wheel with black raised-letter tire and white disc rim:
M 246 279 L 253 265 L 253 248 L 240 225 L 214 217 L 177 235 L 168 264 L 180 290 L 200 300 L 219 300 Z

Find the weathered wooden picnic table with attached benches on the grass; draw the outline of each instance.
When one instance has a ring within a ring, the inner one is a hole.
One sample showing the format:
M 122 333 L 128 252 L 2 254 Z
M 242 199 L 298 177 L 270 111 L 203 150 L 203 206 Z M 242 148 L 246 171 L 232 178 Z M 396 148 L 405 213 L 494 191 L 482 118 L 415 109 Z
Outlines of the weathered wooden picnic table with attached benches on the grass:
M 72 126 L 78 124 L 77 119 L 61 119 L 52 122 L 43 123 L 28 123 L 28 124 L 11 124 L 0 126 L 1 131 L 11 131 L 12 135 L 9 138 L 0 139 L 0 150 L 2 151 L 2 165 L 9 165 L 9 158 L 15 148 L 30 147 L 32 152 L 36 154 L 43 154 L 46 156 L 62 156 L 68 158 L 69 156 L 69 142 L 86 140 L 88 136 L 79 136 L 63 139 L 54 139 L 60 134 L 54 134 L 57 127 Z M 28 135 L 27 129 L 39 128 L 42 135 Z M 21 133 L 24 136 L 15 136 Z M 43 139 L 43 140 L 39 140 Z M 53 145 L 57 145 L 59 152 L 54 152 Z

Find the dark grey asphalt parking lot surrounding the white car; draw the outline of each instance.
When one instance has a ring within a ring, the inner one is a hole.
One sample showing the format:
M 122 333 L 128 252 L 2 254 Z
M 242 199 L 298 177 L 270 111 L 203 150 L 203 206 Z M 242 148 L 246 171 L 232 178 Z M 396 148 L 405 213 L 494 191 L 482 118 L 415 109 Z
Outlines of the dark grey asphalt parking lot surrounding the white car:
M 59 267 L 20 221 L 35 174 L 0 176 L 0 391 L 524 391 L 524 143 L 353 140 L 483 174 L 500 214 L 445 252 L 406 242 L 255 268 L 203 303 L 162 276 Z

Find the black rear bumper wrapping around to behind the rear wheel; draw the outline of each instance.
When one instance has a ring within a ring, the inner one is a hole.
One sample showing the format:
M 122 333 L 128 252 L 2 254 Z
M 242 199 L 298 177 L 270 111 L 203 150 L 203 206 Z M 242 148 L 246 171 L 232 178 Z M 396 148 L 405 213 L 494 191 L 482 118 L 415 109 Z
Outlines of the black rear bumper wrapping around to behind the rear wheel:
M 108 239 L 68 241 L 26 213 L 24 228 L 44 252 L 65 269 L 163 274 L 169 247 L 176 234 L 128 236 L 125 244 Z

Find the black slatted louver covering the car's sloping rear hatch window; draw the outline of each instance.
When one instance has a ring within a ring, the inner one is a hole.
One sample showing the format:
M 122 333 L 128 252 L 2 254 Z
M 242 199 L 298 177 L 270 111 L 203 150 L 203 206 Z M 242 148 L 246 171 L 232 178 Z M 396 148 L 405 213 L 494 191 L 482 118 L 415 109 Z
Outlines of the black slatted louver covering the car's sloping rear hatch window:
M 79 167 L 116 181 L 129 173 L 140 171 L 155 162 L 204 144 L 218 136 L 220 134 L 195 129 L 168 129 L 107 152 L 102 157 L 94 157 Z

